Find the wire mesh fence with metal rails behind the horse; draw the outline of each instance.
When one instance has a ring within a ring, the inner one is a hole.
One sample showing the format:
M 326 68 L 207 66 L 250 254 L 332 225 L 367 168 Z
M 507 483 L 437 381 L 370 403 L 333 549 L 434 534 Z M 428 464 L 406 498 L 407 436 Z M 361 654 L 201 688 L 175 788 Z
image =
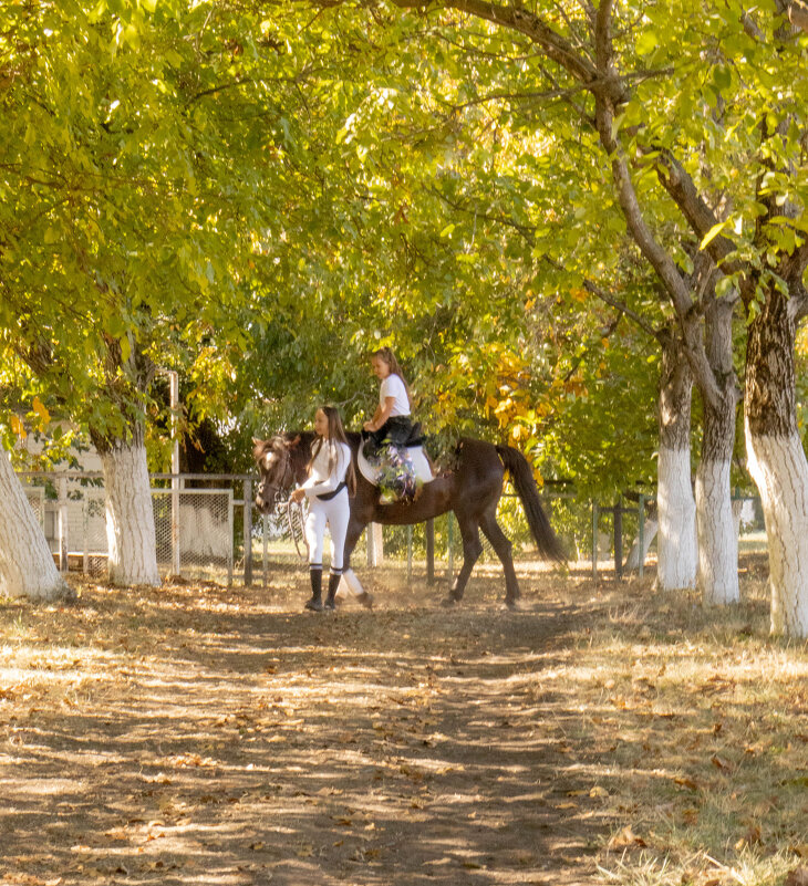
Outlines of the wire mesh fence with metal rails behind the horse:
M 19 477 L 59 567 L 104 572 L 108 549 L 103 473 L 28 471 Z M 266 517 L 255 511 L 252 490 L 257 481 L 253 475 L 151 475 L 160 572 L 230 584 L 239 569 L 244 583 L 250 585 L 258 565 L 266 585 L 273 566 L 297 562 L 286 509 Z M 745 536 L 747 548 L 765 546 L 759 501 L 737 490 L 733 498 L 738 511 L 740 505 L 747 511 L 745 519 L 738 514 L 742 541 Z M 542 496 L 542 501 L 570 560 L 591 562 L 595 577 L 604 567 L 613 569 L 618 577 L 629 570 L 643 574 L 656 531 L 653 497 L 640 496 L 630 505 L 623 500 L 605 505 L 579 499 L 572 492 L 553 492 Z M 499 520 L 517 549 L 520 544 L 530 548 L 515 494 L 503 496 Z M 604 521 L 610 532 L 604 531 Z M 626 539 L 632 546 L 624 556 Z M 406 562 L 407 582 L 416 565 L 423 563 L 425 578 L 432 583 L 444 571 L 452 581 L 455 562 L 462 556 L 459 531 L 453 517 L 446 514 L 413 527 L 373 527 L 363 534 L 354 563 L 363 557 L 370 567 L 385 559 Z M 495 555 L 484 540 L 485 556 Z

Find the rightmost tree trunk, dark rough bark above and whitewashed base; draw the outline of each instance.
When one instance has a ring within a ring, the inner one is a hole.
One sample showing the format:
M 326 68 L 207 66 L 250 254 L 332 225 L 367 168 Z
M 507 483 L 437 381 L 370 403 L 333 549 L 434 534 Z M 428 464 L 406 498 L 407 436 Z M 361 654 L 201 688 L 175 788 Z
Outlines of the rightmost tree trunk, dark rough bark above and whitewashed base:
M 769 549 L 771 632 L 808 637 L 808 462 L 797 429 L 795 321 L 774 288 L 749 324 L 744 426 Z

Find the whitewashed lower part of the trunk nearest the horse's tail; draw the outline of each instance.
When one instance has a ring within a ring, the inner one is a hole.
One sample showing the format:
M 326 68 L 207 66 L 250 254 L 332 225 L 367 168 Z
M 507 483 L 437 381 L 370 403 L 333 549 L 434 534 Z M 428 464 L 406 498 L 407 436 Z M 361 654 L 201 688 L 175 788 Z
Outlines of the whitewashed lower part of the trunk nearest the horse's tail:
M 696 505 L 691 484 L 691 450 L 660 447 L 656 477 L 660 527 L 656 583 L 662 591 L 696 584 Z

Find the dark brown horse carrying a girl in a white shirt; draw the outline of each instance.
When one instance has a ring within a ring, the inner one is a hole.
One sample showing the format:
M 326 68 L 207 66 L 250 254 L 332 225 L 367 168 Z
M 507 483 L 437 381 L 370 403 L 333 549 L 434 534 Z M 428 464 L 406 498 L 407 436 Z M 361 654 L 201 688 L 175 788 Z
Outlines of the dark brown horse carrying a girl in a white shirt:
M 294 483 L 305 480 L 313 440 L 314 434 L 310 431 L 279 434 L 269 440 L 253 440 L 253 456 L 261 475 L 256 507 L 261 513 L 272 510 L 279 493 L 287 493 Z M 348 441 L 356 468 L 361 437 L 359 434 L 349 434 Z M 481 529 L 503 561 L 505 602 L 508 606 L 515 606 L 519 597 L 519 582 L 514 570 L 512 545 L 497 523 L 497 504 L 503 494 L 506 470 L 519 493 L 542 559 L 563 563 L 561 544 L 541 507 L 536 481 L 525 456 L 509 446 L 494 446 L 484 440 L 464 438 L 457 447 L 456 469 L 425 483 L 415 501 L 381 504 L 379 489 L 356 469 L 356 494 L 351 499 L 351 519 L 345 535 L 345 570 L 367 523 L 406 525 L 454 511 L 463 538 L 463 567 L 455 577 L 447 602 L 458 603 L 463 598 L 468 576 L 483 553 L 479 540 Z

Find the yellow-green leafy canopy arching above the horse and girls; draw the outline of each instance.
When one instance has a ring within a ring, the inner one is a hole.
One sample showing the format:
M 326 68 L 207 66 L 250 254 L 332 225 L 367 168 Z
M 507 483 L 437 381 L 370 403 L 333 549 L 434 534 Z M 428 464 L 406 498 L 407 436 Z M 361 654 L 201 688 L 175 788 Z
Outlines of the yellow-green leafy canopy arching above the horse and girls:
M 367 354 L 392 344 L 431 432 L 509 441 L 592 491 L 650 481 L 653 335 L 673 310 L 597 144 L 587 13 L 548 9 L 553 37 L 538 3 L 507 28 L 494 6 L 406 6 L 3 8 L 7 442 L 54 409 L 103 436 L 143 415 L 159 368 L 242 449 L 321 400 L 356 423 Z M 802 44 L 778 55 L 738 4 L 693 9 L 615 6 L 648 222 L 687 268 L 692 234 L 654 175 L 684 148 L 726 195 L 703 247 L 797 249 L 801 222 L 759 223 L 765 195 L 744 185 L 804 201 L 779 171 Z M 788 121 L 763 152 L 760 108 Z

